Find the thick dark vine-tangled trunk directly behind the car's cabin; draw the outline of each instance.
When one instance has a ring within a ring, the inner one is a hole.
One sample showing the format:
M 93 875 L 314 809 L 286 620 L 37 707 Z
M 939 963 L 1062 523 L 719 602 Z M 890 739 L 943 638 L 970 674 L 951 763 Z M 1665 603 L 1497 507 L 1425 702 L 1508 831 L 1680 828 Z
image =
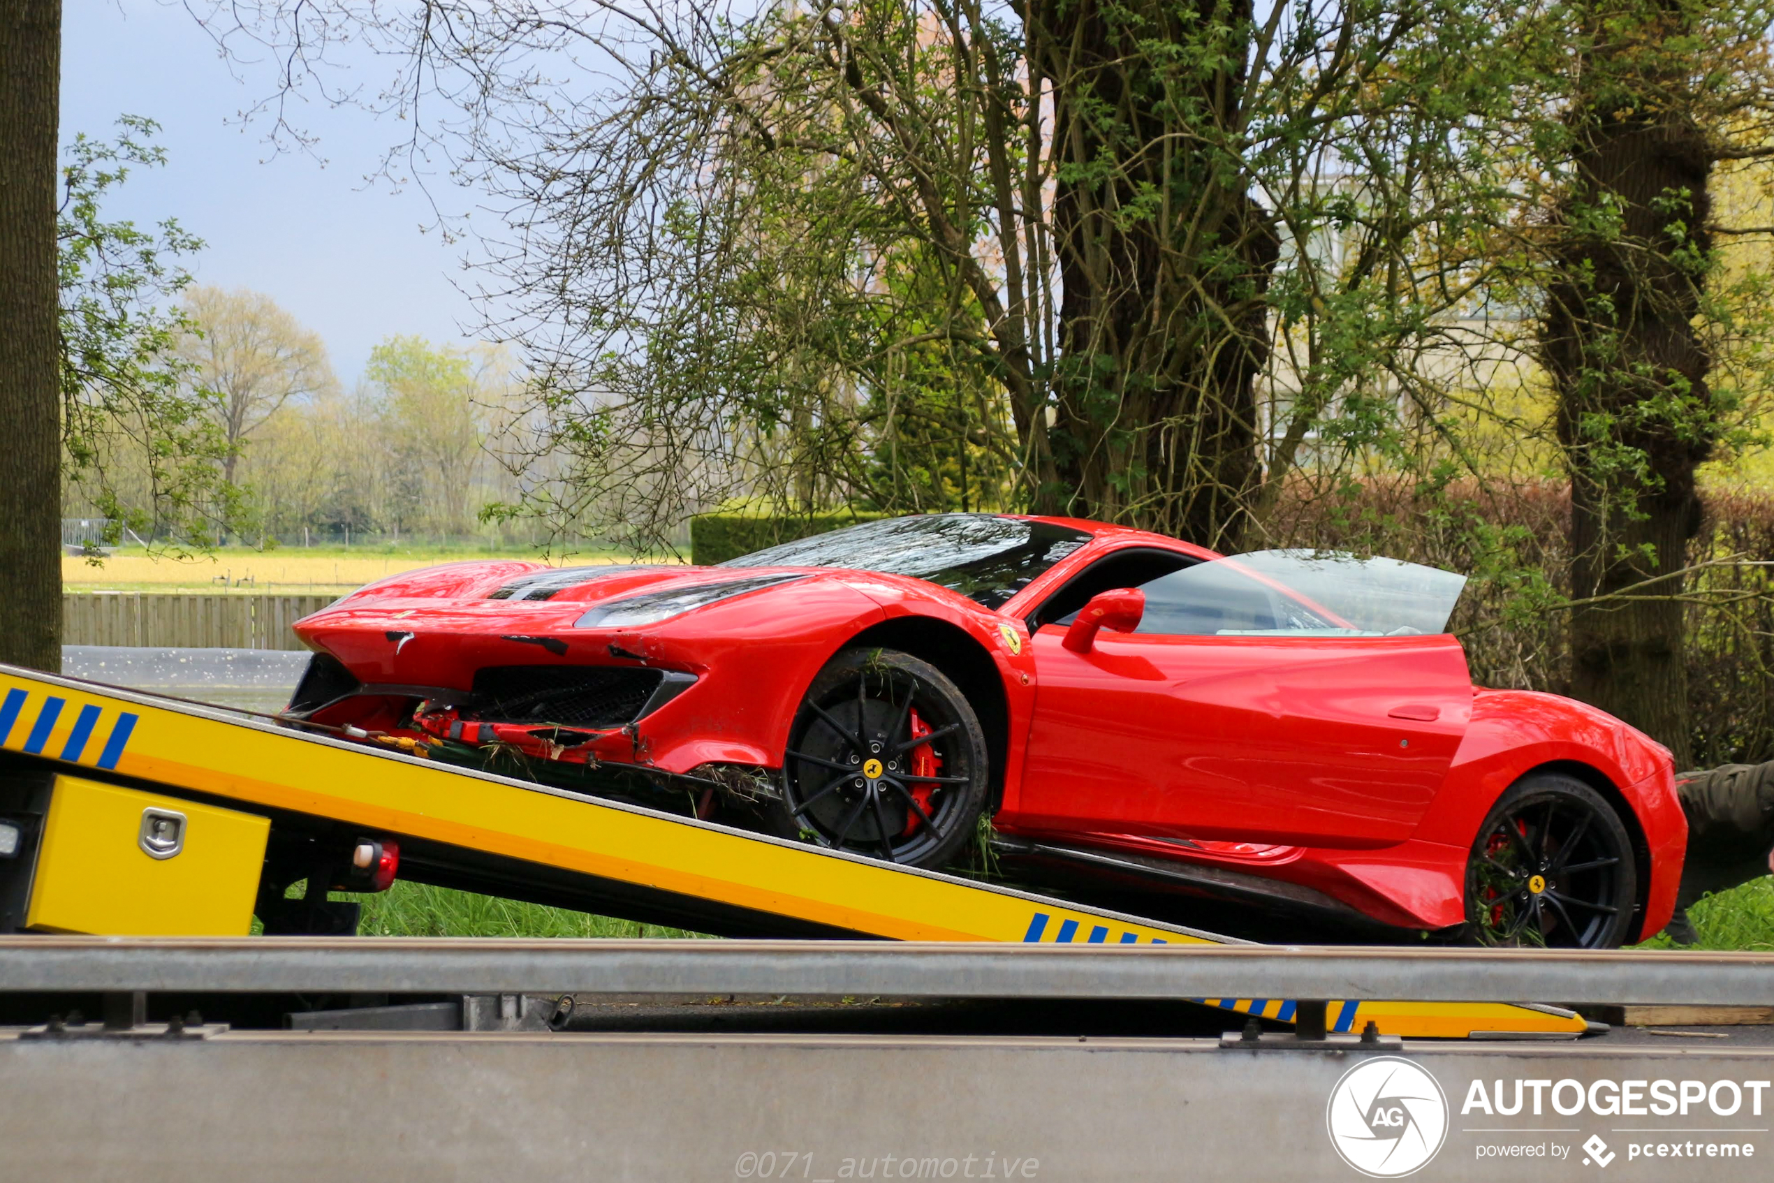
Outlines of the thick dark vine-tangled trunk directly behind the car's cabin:
M 1279 255 L 1233 131 L 1249 0 L 1054 0 L 1038 28 L 1064 286 L 1057 488 L 1041 509 L 1235 548 L 1260 475 L 1254 385 Z M 1194 50 L 1217 64 L 1183 66 Z

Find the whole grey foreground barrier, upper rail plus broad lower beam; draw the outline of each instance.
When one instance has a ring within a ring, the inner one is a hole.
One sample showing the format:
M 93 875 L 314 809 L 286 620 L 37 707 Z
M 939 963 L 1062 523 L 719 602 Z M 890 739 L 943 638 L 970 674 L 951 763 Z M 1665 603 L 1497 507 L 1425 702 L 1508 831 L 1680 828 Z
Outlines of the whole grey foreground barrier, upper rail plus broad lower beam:
M 1767 1178 L 1769 1029 L 1290 1046 L 1084 1036 L 1075 1020 L 1086 1000 L 1267 986 L 1366 1000 L 1396 983 L 1444 1002 L 1552 991 L 1590 1002 L 1767 1004 L 1774 956 L 7 936 L 0 991 L 805 991 L 1066 1002 L 1050 1007 L 1043 1034 L 999 1036 L 734 1032 L 718 1018 L 694 1030 L 470 1034 L 92 1030 L 90 1022 L 0 1029 L 0 1178 Z

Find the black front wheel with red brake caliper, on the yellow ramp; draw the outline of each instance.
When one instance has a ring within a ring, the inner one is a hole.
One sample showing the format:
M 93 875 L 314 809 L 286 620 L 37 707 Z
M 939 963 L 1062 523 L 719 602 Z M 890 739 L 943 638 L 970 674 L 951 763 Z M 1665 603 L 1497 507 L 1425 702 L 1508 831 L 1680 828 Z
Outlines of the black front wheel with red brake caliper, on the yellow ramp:
M 985 729 L 942 670 L 898 649 L 844 649 L 802 699 L 782 800 L 765 812 L 784 837 L 940 867 L 974 841 L 988 780 Z

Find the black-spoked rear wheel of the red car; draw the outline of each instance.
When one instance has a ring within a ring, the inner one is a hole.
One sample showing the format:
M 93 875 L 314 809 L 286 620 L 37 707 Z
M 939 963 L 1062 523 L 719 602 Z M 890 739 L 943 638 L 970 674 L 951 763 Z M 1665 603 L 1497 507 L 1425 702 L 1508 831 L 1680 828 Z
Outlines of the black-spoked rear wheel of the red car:
M 1637 905 L 1632 837 L 1614 807 L 1563 773 L 1531 773 L 1492 805 L 1465 867 L 1467 936 L 1481 945 L 1618 949 Z

